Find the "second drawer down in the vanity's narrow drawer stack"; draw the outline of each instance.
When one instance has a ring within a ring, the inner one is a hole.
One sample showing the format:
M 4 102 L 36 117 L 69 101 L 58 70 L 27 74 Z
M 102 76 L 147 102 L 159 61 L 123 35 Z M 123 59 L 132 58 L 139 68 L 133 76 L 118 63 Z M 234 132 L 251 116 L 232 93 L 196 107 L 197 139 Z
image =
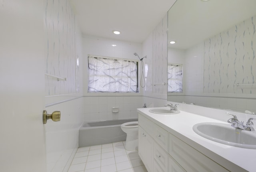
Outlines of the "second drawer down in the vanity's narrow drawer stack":
M 168 171 L 168 154 L 161 148 L 156 142 L 154 142 L 154 159 L 162 167 L 162 169 Z

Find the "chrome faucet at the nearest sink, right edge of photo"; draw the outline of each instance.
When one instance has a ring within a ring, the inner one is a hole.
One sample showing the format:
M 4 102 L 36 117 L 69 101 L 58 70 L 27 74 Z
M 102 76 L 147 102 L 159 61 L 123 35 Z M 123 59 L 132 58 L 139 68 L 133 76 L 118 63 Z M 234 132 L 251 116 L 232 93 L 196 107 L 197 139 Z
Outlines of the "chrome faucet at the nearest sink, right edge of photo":
M 227 115 L 232 115 L 230 113 L 226 113 Z M 232 127 L 237 128 L 237 129 L 241 129 L 241 130 L 247 130 L 247 131 L 255 131 L 255 129 L 253 128 L 253 123 L 252 120 L 256 119 L 256 118 L 249 118 L 248 121 L 246 122 L 246 125 L 244 125 L 244 121 L 238 121 L 236 115 L 232 115 L 233 118 L 228 119 L 228 123 L 231 124 Z

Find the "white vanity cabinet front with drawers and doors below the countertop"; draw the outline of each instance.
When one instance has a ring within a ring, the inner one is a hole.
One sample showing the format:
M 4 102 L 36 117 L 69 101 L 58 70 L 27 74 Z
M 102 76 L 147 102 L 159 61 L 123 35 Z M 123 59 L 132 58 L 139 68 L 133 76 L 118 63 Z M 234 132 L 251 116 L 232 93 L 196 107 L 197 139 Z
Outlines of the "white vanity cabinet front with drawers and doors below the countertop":
M 148 172 L 229 172 L 140 113 L 138 153 Z

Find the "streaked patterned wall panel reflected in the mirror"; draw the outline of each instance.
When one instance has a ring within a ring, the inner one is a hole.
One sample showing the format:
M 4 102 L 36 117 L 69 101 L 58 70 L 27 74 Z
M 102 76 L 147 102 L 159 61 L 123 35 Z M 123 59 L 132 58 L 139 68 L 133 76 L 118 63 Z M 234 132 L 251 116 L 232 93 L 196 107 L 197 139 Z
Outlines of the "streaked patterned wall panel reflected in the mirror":
M 204 93 L 255 94 L 256 16 L 204 42 Z

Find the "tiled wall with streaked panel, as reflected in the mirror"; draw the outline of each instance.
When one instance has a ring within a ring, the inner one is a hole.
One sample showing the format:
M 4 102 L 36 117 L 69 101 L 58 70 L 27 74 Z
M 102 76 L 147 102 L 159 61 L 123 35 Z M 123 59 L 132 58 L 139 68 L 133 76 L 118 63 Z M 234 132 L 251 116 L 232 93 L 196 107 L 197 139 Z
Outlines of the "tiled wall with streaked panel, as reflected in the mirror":
M 168 100 L 255 112 L 256 86 L 234 86 L 254 83 L 254 23 L 255 17 L 249 18 L 184 51 L 168 49 L 169 61 L 184 64 L 184 93 L 169 94 Z

